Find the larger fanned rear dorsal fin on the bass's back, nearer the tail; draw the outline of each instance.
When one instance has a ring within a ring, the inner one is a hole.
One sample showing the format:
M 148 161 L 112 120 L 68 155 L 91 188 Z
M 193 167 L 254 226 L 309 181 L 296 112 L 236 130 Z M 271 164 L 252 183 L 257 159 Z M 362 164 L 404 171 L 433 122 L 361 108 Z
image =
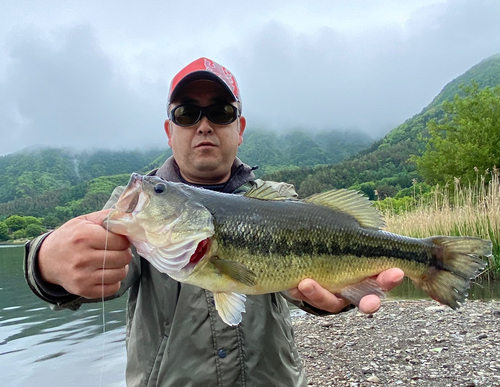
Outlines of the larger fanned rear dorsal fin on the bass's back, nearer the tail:
M 380 229 L 385 226 L 384 220 L 372 202 L 358 191 L 334 189 L 314 194 L 304 201 L 351 215 L 362 227 Z

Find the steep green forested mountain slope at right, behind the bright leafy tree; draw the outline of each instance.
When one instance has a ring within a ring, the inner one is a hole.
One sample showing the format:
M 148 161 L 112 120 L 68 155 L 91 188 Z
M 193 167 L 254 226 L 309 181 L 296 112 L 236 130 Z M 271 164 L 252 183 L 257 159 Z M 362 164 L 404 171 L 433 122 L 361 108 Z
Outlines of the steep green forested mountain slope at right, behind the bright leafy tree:
M 434 100 L 419 114 L 394 128 L 382 140 L 354 157 L 334 165 L 277 171 L 264 176 L 270 180 L 295 184 L 300 196 L 332 188 L 355 188 L 370 198 L 394 196 L 400 190 L 422 181 L 412 155 L 425 149 L 422 138 L 427 135 L 426 125 L 432 119 L 443 117 L 442 103 L 460 94 L 461 85 L 476 82 L 480 88 L 500 84 L 500 54 L 491 56 L 448 83 Z

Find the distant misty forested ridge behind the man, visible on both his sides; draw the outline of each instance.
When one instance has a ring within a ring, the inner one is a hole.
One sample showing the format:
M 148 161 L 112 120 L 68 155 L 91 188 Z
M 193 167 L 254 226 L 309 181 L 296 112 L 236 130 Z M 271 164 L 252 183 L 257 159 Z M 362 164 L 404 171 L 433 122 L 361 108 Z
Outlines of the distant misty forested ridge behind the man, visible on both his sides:
M 245 133 L 239 156 L 266 171 L 330 164 L 371 144 L 366 135 L 301 131 L 285 135 L 264 130 Z M 346 144 L 349 144 L 347 147 Z M 348 151 L 346 151 L 346 148 Z M 11 215 L 48 218 L 47 227 L 100 209 L 114 187 L 127 183 L 130 173 L 159 167 L 170 149 L 150 151 L 74 152 L 29 148 L 0 157 L 0 221 Z

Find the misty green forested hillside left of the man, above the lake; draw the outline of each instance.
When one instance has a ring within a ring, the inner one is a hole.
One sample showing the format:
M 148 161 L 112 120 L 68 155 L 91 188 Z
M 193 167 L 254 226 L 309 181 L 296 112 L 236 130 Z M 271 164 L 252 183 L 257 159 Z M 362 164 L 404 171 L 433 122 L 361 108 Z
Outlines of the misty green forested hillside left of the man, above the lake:
M 11 215 L 48 217 L 54 226 L 102 207 L 112 189 L 162 151 L 74 152 L 28 148 L 0 157 L 0 221 Z

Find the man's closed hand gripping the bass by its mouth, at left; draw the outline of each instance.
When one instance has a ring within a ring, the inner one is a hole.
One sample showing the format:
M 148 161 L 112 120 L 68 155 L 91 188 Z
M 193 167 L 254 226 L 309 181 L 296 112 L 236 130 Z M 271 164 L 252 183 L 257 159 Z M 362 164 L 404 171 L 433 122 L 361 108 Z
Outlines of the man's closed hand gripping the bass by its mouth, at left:
M 101 226 L 110 210 L 71 219 L 42 243 L 42 278 L 85 298 L 108 297 L 120 289 L 132 260 L 130 242 Z M 106 253 L 104 249 L 106 248 Z

